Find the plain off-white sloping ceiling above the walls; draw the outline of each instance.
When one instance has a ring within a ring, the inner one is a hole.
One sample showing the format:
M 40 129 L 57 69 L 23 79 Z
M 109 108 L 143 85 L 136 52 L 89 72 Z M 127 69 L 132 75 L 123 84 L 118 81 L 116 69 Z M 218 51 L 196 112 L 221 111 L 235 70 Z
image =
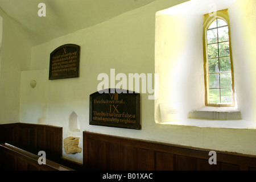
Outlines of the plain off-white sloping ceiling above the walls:
M 0 0 L 0 9 L 36 35 L 38 43 L 104 22 L 155 0 Z M 39 17 L 39 3 L 46 17 Z

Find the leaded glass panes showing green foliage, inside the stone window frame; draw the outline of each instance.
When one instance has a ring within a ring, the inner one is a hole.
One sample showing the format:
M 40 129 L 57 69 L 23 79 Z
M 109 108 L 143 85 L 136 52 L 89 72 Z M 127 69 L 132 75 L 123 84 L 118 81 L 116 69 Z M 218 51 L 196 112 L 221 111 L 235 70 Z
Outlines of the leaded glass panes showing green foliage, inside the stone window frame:
M 207 30 L 209 104 L 232 104 L 229 27 L 215 19 Z

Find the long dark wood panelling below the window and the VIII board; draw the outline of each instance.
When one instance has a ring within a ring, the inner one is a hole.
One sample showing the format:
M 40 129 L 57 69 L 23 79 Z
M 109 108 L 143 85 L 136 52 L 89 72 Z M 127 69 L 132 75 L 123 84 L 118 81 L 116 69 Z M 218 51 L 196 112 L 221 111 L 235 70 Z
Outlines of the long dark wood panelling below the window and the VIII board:
M 115 137 L 84 131 L 84 167 L 88 170 L 225 171 L 255 170 L 256 156 L 216 151 L 217 163 L 200 148 Z

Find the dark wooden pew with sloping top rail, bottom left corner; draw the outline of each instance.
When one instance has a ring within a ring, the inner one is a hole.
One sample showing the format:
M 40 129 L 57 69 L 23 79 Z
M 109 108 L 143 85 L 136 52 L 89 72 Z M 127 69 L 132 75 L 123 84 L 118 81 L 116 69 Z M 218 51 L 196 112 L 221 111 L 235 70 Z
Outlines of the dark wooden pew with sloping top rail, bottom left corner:
M 47 160 L 39 164 L 39 155 L 31 154 L 7 143 L 0 144 L 0 169 L 10 171 L 73 171 L 61 164 Z M 40 160 L 41 162 L 41 160 Z

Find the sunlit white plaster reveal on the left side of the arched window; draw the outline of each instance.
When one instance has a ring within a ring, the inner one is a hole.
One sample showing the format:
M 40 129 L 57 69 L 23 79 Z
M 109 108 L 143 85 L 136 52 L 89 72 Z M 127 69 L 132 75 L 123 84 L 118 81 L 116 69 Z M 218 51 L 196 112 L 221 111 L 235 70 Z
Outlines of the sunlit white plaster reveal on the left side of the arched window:
M 203 21 L 203 16 L 195 14 L 156 15 L 157 122 L 162 121 L 159 104 L 175 103 L 179 119 L 204 106 Z

